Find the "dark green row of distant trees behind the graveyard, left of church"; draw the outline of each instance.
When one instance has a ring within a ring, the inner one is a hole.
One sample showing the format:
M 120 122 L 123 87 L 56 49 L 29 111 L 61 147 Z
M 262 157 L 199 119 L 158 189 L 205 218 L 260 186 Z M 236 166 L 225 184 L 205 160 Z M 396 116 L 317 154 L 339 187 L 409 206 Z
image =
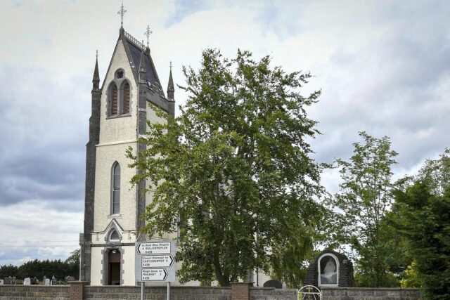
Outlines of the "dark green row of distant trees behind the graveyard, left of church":
M 55 276 L 58 280 L 64 280 L 66 276 L 78 278 L 79 260 L 75 261 L 75 256 L 79 255 L 79 250 L 75 250 L 70 254 L 71 256 L 66 261 L 61 261 L 60 259 L 54 261 L 34 259 L 23 263 L 22 266 L 0 266 L 0 278 L 15 276 L 15 278 L 23 280 L 27 277 L 36 277 L 39 281 L 42 281 L 44 276 L 47 278 Z

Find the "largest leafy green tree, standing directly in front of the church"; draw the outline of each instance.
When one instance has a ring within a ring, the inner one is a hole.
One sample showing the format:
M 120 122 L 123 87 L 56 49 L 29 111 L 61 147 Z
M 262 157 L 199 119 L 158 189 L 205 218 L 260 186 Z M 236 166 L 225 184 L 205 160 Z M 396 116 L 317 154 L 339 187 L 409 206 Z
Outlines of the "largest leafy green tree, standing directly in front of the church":
M 181 282 L 227 286 L 273 266 L 280 279 L 295 280 L 283 266 L 288 256 L 307 256 L 322 211 L 308 142 L 318 132 L 306 112 L 320 92 L 302 96 L 309 74 L 287 74 L 247 51 L 229 60 L 206 50 L 200 70 L 184 74 L 181 115 L 149 123 L 146 150 L 127 152 L 140 170 L 132 182 L 148 180 L 153 195 L 143 231 L 181 228 Z

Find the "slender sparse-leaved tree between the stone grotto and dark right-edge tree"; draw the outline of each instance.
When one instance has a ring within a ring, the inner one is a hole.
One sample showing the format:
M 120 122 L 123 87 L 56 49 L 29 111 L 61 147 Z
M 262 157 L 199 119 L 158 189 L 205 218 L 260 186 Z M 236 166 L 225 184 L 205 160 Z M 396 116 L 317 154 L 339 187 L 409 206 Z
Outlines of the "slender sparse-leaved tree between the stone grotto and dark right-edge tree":
M 394 190 L 392 165 L 397 152 L 391 150 L 390 139 L 375 138 L 365 132 L 359 135 L 364 143 L 354 143 L 348 161 L 338 159 L 342 183 L 340 191 L 331 197 L 335 209 L 336 228 L 342 243 L 348 244 L 356 258 L 359 277 L 364 285 L 390 285 L 385 259 L 390 249 L 383 230 Z

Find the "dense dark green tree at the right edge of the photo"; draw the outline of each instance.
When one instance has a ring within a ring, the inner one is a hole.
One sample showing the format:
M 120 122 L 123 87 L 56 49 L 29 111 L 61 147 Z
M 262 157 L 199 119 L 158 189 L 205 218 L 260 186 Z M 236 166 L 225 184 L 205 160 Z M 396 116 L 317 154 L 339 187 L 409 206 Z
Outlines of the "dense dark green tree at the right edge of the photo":
M 450 297 L 449 154 L 429 159 L 406 190 L 397 190 L 392 216 L 413 259 L 404 281 L 419 284 L 425 299 Z

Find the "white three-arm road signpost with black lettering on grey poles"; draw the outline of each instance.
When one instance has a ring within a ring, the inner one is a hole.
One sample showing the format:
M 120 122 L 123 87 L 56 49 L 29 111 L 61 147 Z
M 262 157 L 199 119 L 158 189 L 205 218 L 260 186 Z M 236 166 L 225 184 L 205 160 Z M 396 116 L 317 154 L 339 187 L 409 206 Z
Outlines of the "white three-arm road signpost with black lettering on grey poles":
M 141 300 L 145 282 L 167 282 L 167 300 L 170 282 L 175 281 L 175 242 L 136 242 L 135 275 L 141 282 Z

